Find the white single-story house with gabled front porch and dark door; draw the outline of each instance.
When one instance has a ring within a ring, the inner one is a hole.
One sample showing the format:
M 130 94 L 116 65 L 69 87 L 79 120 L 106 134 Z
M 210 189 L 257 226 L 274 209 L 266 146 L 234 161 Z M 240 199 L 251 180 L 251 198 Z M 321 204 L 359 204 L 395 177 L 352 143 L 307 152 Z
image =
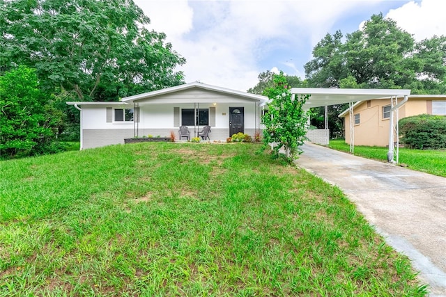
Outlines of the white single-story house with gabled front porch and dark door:
M 211 127 L 210 141 L 226 141 L 238 132 L 254 136 L 268 97 L 204 83 L 125 97 L 121 102 L 67 102 L 81 112 L 81 150 L 124 143 L 134 136 L 168 137 L 187 126 L 191 137 Z M 79 107 L 80 106 L 80 107 Z

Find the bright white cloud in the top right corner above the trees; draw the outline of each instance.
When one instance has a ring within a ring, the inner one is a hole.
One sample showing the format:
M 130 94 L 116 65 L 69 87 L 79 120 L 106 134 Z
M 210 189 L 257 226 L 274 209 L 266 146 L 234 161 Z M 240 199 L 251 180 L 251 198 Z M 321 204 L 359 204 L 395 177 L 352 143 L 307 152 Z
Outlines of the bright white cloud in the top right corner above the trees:
M 433 35 L 446 35 L 445 11 L 444 0 L 410 1 L 390 10 L 386 17 L 397 21 L 398 26 L 420 41 Z

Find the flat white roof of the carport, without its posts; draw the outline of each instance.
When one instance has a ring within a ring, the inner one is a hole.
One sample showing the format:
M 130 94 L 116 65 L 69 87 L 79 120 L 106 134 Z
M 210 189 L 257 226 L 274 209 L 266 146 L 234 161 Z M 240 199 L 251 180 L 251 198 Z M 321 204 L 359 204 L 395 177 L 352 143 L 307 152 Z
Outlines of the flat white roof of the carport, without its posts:
M 410 90 L 403 89 L 337 89 L 337 88 L 292 88 L 295 95 L 311 95 L 305 107 L 344 104 L 392 96 L 410 95 Z

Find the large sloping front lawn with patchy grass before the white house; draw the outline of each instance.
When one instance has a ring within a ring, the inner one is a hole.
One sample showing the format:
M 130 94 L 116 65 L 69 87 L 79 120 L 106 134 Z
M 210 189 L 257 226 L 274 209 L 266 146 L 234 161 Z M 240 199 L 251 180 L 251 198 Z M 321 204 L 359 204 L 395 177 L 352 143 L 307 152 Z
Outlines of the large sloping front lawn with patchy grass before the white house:
M 424 296 L 338 188 L 259 145 L 1 162 L 1 296 Z

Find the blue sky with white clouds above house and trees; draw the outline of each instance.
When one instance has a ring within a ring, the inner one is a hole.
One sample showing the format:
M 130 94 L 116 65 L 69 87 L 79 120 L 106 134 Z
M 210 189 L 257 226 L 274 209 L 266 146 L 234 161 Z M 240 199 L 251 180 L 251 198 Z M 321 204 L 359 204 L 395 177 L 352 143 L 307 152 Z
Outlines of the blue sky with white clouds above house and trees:
M 446 35 L 445 0 L 134 0 L 186 59 L 176 70 L 246 91 L 266 70 L 305 78 L 314 46 L 340 30 L 353 33 L 383 13 L 415 40 Z

